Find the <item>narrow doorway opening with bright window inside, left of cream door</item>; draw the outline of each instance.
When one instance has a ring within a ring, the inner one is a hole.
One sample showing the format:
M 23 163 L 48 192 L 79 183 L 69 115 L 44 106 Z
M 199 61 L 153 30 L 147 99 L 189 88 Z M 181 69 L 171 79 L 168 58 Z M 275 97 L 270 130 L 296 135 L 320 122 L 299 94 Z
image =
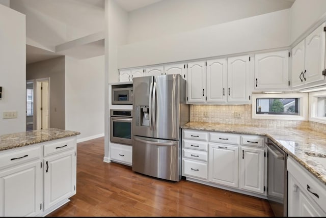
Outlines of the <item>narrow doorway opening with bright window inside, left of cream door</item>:
M 34 130 L 34 79 L 26 80 L 26 131 Z

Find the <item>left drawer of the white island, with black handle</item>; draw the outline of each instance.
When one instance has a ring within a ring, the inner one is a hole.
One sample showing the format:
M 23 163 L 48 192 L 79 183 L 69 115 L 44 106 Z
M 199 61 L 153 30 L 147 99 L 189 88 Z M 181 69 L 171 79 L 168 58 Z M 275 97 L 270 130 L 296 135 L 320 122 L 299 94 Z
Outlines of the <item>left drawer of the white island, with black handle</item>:
M 22 148 L 0 155 L 0 168 L 10 167 L 16 163 L 22 163 L 41 157 L 41 146 Z

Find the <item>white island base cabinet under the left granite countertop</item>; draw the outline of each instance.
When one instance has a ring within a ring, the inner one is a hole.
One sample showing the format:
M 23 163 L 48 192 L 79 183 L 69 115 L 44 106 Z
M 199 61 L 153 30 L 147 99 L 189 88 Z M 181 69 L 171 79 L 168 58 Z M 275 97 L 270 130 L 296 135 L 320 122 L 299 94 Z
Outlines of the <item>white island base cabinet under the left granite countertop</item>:
M 0 152 L 0 216 L 44 216 L 76 194 L 76 137 Z

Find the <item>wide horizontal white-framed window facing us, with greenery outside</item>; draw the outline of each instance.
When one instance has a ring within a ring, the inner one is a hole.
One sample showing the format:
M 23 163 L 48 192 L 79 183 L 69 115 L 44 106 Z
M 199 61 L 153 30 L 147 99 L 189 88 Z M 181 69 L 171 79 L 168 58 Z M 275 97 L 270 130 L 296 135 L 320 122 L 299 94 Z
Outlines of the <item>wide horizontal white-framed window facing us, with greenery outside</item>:
M 252 118 L 307 120 L 306 93 L 253 94 Z

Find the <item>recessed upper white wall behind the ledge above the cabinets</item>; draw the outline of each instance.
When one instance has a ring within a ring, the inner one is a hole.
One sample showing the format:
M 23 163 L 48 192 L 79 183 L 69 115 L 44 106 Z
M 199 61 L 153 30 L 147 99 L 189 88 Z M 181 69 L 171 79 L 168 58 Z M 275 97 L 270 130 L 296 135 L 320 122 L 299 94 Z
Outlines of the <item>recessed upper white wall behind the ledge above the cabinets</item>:
M 128 43 L 288 9 L 284 0 L 164 0 L 129 13 Z

